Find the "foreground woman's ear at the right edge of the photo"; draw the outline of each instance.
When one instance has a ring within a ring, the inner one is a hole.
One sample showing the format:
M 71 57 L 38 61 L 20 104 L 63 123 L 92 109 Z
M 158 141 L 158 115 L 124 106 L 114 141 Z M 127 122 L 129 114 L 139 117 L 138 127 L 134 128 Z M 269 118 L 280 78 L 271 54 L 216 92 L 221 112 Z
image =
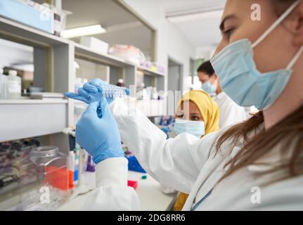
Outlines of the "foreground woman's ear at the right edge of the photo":
M 294 39 L 293 44 L 295 46 L 303 45 L 303 1 L 297 6 L 295 10 L 295 24 L 293 27 Z

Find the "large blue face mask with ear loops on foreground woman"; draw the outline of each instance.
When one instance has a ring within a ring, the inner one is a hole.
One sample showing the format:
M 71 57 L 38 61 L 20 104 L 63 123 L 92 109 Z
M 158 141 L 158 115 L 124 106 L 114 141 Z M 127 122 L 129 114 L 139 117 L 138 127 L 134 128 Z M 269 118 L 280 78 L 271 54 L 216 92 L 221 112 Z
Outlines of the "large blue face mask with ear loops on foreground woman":
M 223 91 L 238 105 L 245 107 L 254 105 L 259 110 L 269 108 L 288 84 L 292 74 L 291 69 L 301 56 L 303 46 L 287 68 L 266 73 L 257 70 L 252 49 L 262 42 L 300 1 L 290 6 L 254 44 L 248 39 L 241 39 L 229 44 L 212 58 L 212 67 L 219 77 Z

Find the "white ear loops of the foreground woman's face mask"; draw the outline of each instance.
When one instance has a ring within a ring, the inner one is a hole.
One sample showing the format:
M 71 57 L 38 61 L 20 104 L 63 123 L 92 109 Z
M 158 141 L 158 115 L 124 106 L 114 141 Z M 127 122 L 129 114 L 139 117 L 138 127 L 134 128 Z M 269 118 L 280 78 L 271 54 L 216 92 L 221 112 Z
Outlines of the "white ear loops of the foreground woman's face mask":
M 290 6 L 290 8 L 288 8 L 287 11 L 285 11 L 280 18 L 278 18 L 278 20 L 276 20 L 275 23 L 273 23 L 273 25 L 271 25 L 271 27 L 269 27 L 269 29 L 267 29 L 262 35 L 261 37 L 259 37 L 259 39 L 257 39 L 257 41 L 254 41 L 254 44 L 252 44 L 252 49 L 254 49 L 254 47 L 256 47 L 257 45 L 259 45 L 262 41 L 264 41 L 264 39 L 269 36 L 269 34 L 276 29 L 276 27 L 278 27 L 278 25 L 280 25 L 282 23 L 283 20 L 285 20 L 285 18 L 288 17 L 288 15 L 290 15 L 290 13 L 300 4 L 302 0 L 297 0 L 295 1 L 294 4 L 292 4 L 292 6 Z M 295 63 L 297 63 L 297 60 L 299 60 L 299 57 L 301 56 L 303 52 L 303 46 L 301 46 L 301 48 L 299 49 L 299 51 L 297 52 L 297 54 L 294 56 L 294 58 L 292 58 L 292 60 L 290 60 L 290 63 L 288 64 L 288 66 L 286 67 L 287 70 L 290 70 Z

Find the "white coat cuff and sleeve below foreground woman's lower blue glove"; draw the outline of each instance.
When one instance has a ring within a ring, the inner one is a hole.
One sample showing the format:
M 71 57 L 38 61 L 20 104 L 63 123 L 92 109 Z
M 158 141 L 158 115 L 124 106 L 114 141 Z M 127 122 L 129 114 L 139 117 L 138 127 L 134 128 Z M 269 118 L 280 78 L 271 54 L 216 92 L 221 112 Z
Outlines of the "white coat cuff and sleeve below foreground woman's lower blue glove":
M 89 211 L 140 210 L 138 195 L 127 186 L 127 159 L 108 158 L 96 165 L 96 186 L 84 204 Z

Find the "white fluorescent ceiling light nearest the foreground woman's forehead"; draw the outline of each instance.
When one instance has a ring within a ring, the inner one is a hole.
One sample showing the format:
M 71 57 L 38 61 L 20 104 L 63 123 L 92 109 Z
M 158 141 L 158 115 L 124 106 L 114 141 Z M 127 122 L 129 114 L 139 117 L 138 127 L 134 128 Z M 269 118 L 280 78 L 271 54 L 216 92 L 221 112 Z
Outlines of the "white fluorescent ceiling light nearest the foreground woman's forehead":
M 171 23 L 181 23 L 186 21 L 193 21 L 193 20 L 201 20 L 201 19 L 217 19 L 221 18 L 223 15 L 223 11 L 208 11 L 208 12 L 201 12 L 201 13 L 191 13 L 185 15 L 172 15 L 167 16 L 167 20 Z

